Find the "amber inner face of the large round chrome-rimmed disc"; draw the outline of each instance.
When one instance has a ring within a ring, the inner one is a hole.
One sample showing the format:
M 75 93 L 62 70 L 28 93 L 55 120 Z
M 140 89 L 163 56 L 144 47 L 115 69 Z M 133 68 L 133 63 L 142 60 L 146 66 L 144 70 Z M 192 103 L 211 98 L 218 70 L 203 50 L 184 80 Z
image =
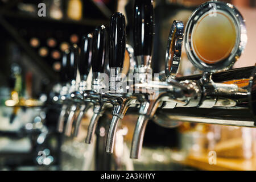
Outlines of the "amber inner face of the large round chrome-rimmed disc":
M 206 13 L 196 23 L 191 37 L 199 59 L 214 64 L 226 59 L 232 52 L 237 39 L 236 26 L 224 11 L 217 11 L 216 16 Z

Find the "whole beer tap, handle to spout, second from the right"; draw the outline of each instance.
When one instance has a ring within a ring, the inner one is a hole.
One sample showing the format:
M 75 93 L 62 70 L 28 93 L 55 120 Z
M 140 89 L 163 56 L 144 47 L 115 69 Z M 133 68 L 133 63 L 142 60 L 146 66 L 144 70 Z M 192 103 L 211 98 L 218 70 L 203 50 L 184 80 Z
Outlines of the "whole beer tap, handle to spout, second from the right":
M 129 106 L 138 104 L 136 98 L 132 94 L 127 93 L 126 88 L 123 88 L 122 67 L 125 57 L 125 47 L 125 16 L 121 13 L 115 13 L 110 20 L 109 28 L 110 90 L 100 93 L 100 100 L 102 102 L 113 105 L 113 118 L 110 123 L 106 142 L 106 152 L 109 153 L 113 153 L 115 133 L 119 120 L 123 118 Z

